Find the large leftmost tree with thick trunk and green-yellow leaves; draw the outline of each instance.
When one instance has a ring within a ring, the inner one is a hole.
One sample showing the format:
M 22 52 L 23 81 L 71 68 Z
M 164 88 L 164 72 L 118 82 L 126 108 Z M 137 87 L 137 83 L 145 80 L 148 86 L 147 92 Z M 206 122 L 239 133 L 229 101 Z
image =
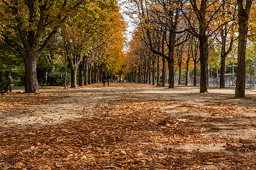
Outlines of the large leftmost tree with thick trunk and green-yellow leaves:
M 60 24 L 78 5 L 75 0 L 0 2 L 1 38 L 23 58 L 25 92 L 39 93 L 36 62 Z M 15 32 L 18 32 L 18 37 Z

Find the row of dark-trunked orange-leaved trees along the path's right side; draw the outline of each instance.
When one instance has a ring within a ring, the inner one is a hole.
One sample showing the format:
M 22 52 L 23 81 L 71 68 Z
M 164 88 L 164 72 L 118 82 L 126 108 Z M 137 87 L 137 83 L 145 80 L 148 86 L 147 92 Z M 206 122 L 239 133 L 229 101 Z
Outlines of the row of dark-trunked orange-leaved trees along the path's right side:
M 226 58 L 232 52 L 233 42 L 237 40 L 238 71 L 235 96 L 245 96 L 246 41 L 250 11 L 253 11 L 249 24 L 250 38 L 252 40 L 255 37 L 253 1 L 131 0 L 130 4 L 130 16 L 137 16 L 134 22 L 138 28 L 133 42 L 130 43 L 129 56 L 135 60 L 142 58 L 137 62 L 130 62 L 131 68 L 138 69 L 139 74 L 145 74 L 145 66 L 151 65 L 148 61 L 152 61 L 153 65 L 157 61 L 159 76 L 159 57 L 162 57 L 163 80 L 167 62 L 169 88 L 174 88 L 176 68 L 181 69 L 185 63 L 188 75 L 189 63 L 192 62 L 196 72 L 196 63 L 200 62 L 200 92 L 207 92 L 209 56 L 216 56 L 220 49 L 220 87 L 224 88 Z M 136 50 L 134 44 L 138 41 L 141 45 L 137 46 Z

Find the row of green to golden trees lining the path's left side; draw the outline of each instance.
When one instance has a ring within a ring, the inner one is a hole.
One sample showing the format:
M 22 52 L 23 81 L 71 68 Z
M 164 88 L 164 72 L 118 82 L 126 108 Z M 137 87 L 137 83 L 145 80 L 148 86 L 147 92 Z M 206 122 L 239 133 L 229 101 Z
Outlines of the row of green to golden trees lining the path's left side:
M 52 71 L 68 61 L 71 87 L 77 73 L 82 86 L 98 82 L 103 72 L 119 73 L 125 64 L 126 25 L 117 1 L 6 0 L 0 17 L 1 66 L 24 67 L 25 92 L 39 92 L 40 58 Z

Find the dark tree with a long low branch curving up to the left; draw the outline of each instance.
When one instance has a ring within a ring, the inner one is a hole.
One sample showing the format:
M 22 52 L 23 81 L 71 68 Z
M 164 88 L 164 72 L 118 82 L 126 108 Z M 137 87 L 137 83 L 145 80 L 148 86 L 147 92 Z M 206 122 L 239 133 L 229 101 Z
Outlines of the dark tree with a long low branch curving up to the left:
M 154 4 L 155 3 L 155 4 Z M 179 37 L 177 37 L 177 30 L 182 25 L 181 22 L 181 11 L 180 11 L 180 1 L 164 1 L 159 0 L 152 2 L 152 10 L 148 7 L 147 1 L 145 5 L 141 1 L 141 18 L 144 21 L 143 27 L 146 29 L 146 35 L 148 38 L 150 50 L 155 54 L 162 56 L 163 58 L 167 59 L 168 62 L 168 69 L 169 69 L 169 88 L 174 88 L 174 52 L 175 46 L 179 46 L 183 42 L 177 43 Z M 146 9 L 144 9 L 146 8 Z M 150 15 L 151 14 L 151 15 Z M 154 22 L 151 22 L 153 20 Z M 158 30 L 163 32 L 163 41 L 162 43 L 166 42 L 168 47 L 168 54 L 164 54 L 163 50 L 160 51 L 156 49 L 153 45 L 152 38 L 151 38 L 151 27 L 158 24 Z M 162 29 L 161 29 L 162 28 Z M 181 35 L 183 36 L 183 35 Z M 185 40 L 187 41 L 187 39 Z M 163 61 L 164 63 L 164 61 Z M 163 64 L 164 65 L 164 64 Z M 164 71 L 164 70 L 163 70 Z M 164 77 L 163 77 L 164 80 Z

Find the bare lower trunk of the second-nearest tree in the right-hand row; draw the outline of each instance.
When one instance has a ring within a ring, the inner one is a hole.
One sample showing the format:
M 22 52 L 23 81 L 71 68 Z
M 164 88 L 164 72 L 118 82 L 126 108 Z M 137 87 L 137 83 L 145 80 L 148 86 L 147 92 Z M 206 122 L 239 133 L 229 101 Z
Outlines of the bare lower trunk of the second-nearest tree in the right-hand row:
M 208 92 L 207 66 L 208 66 L 208 39 L 207 36 L 199 37 L 200 45 L 200 93 Z

